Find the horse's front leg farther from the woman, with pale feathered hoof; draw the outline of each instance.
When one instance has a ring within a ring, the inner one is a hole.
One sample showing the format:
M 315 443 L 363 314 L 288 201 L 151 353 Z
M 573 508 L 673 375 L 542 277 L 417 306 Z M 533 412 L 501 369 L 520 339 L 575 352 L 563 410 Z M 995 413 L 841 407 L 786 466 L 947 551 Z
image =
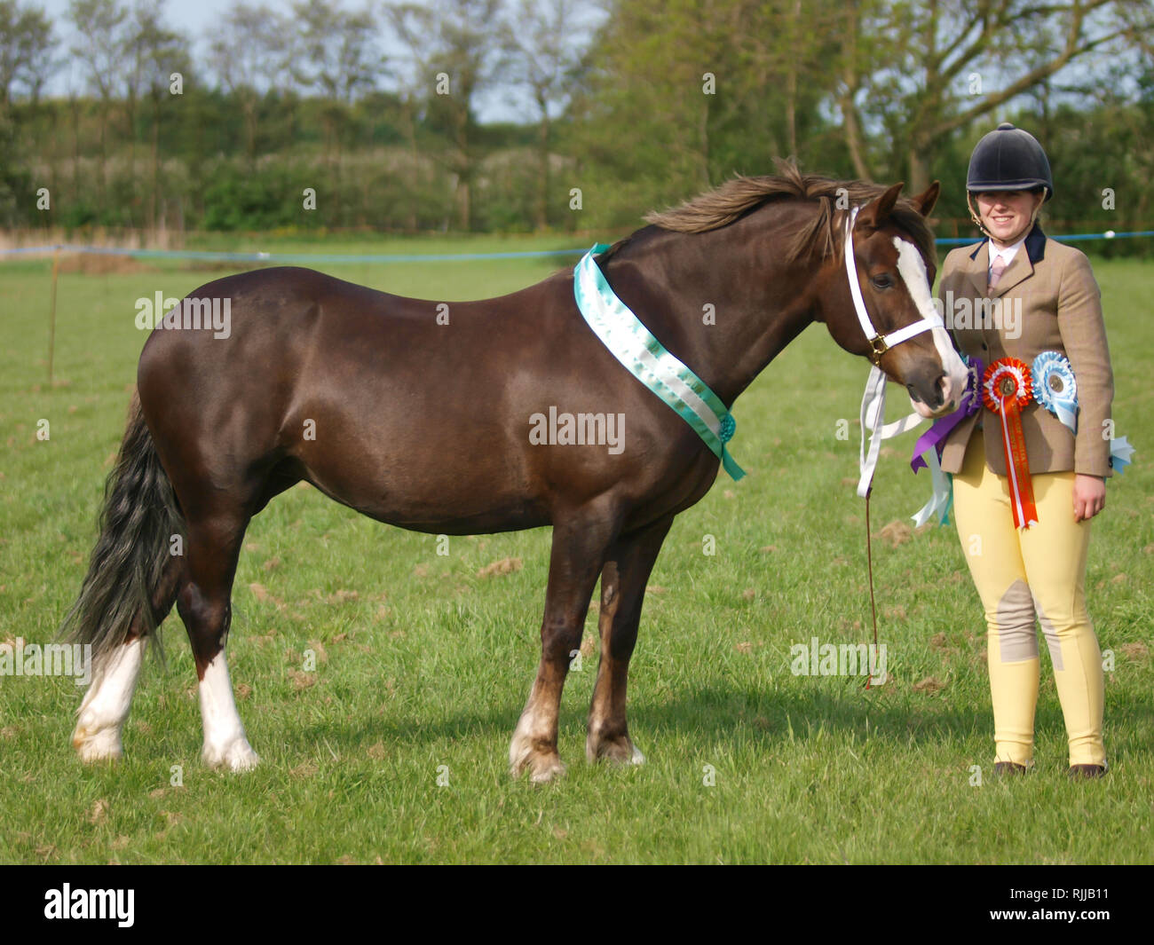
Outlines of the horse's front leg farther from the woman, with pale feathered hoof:
M 529 768 L 532 780 L 540 782 L 565 773 L 557 755 L 561 691 L 570 654 L 580 647 L 593 585 L 619 524 L 608 501 L 554 522 L 549 586 L 541 621 L 541 662 L 509 745 L 514 777 Z

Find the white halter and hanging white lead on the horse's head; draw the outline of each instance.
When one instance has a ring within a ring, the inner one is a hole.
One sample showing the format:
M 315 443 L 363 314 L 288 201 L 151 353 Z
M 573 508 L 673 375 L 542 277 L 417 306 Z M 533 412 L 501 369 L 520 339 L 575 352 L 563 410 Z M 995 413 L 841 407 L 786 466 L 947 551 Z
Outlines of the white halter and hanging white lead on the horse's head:
M 857 467 L 861 471 L 857 480 L 857 495 L 864 498 L 869 493 L 870 485 L 874 482 L 874 470 L 877 467 L 877 457 L 882 449 L 882 441 L 889 440 L 891 436 L 900 436 L 916 427 L 924 419 L 917 413 L 911 413 L 901 420 L 896 420 L 885 426 L 882 425 L 882 421 L 885 419 L 886 377 L 885 372 L 878 367 L 878 362 L 882 360 L 882 355 L 891 347 L 913 338 L 915 335 L 921 335 L 923 331 L 930 331 L 942 325 L 942 320 L 936 314 L 932 318 L 922 316 L 921 320 L 913 324 L 899 328 L 889 335 L 882 335 L 874 328 L 874 322 L 870 321 L 869 313 L 865 310 L 865 301 L 862 299 L 862 287 L 857 279 L 857 262 L 854 257 L 854 222 L 857 219 L 859 209 L 855 207 L 846 219 L 846 245 L 842 255 L 846 257 L 846 276 L 849 279 L 849 294 L 854 300 L 854 310 L 857 313 L 857 321 L 862 327 L 862 331 L 865 332 L 865 338 L 869 340 L 870 360 L 874 362 L 874 367 L 870 368 L 869 380 L 865 382 L 865 392 L 862 396 L 862 442 L 857 456 Z M 870 432 L 868 450 L 865 448 L 865 430 Z

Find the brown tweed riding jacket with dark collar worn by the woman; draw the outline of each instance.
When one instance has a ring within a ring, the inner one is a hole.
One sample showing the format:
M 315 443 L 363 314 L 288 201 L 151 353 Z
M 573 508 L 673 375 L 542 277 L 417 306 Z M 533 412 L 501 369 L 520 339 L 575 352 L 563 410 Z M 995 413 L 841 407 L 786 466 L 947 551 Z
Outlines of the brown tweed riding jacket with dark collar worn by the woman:
M 1114 399 L 1114 373 L 1101 293 L 1089 261 L 1080 250 L 1048 239 L 1035 223 L 997 286 L 987 294 L 989 247 L 989 240 L 959 247 L 942 267 L 938 299 L 958 350 L 980 358 L 987 367 L 1006 357 L 1031 365 L 1043 351 L 1065 354 L 1078 387 L 1078 435 L 1032 400 L 1021 413 L 1029 471 L 1111 475 L 1111 425 L 1106 421 Z M 1006 475 L 1001 420 L 984 406 L 946 437 L 942 468 L 961 471 L 966 444 L 979 420 L 986 430 L 986 465 Z

